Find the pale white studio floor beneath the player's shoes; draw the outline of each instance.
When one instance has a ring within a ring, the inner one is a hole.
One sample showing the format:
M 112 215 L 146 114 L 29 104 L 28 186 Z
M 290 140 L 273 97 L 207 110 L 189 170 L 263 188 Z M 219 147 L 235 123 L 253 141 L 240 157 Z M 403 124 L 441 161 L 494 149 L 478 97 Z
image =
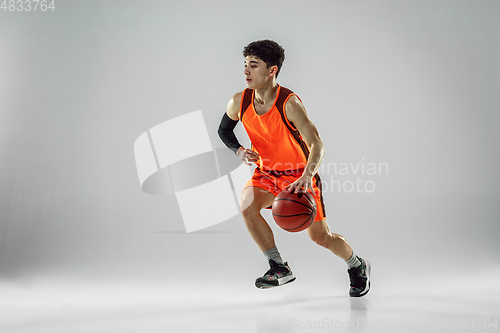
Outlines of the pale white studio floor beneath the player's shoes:
M 500 332 L 500 269 L 377 277 L 349 298 L 308 276 L 270 290 L 68 276 L 0 282 L 0 332 Z

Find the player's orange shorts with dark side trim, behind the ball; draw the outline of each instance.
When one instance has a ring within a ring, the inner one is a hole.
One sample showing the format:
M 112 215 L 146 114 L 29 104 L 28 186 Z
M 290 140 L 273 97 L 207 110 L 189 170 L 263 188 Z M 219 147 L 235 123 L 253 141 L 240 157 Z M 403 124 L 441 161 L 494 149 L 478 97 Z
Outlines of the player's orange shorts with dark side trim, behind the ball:
M 285 171 L 275 171 L 275 170 L 262 170 L 260 168 L 256 168 L 252 178 L 245 184 L 243 190 L 247 187 L 254 186 L 262 188 L 269 193 L 277 196 L 281 191 L 285 189 L 285 187 L 294 181 L 296 181 L 300 176 L 302 176 L 302 172 L 304 169 L 297 170 L 285 170 Z M 319 186 L 318 186 L 319 185 Z M 314 200 L 316 201 L 317 213 L 314 219 L 316 221 L 323 221 L 326 219 L 325 205 L 323 204 L 323 194 L 321 192 L 321 180 L 319 175 L 313 178 L 313 189 L 316 195 L 314 196 Z M 271 207 L 266 207 L 267 209 L 271 209 Z

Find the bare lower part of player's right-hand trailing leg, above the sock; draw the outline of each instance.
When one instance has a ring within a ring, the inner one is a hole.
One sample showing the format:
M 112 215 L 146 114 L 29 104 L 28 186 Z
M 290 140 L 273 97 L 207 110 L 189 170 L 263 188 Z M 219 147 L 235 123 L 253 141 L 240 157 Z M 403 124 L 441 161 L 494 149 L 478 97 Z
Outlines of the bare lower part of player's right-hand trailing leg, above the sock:
M 353 253 L 351 246 L 347 243 L 344 236 L 334 234 L 330 231 L 326 220 L 313 222 L 309 228 L 307 228 L 307 233 L 312 241 L 329 249 L 343 260 L 349 260 L 349 258 L 351 258 Z

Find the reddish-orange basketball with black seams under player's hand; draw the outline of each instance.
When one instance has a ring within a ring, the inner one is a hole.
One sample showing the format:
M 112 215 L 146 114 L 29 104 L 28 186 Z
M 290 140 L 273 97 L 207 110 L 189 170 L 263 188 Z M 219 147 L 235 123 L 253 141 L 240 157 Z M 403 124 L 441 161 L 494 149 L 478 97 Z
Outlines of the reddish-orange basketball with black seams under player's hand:
M 272 206 L 274 221 L 289 232 L 307 229 L 316 217 L 316 209 L 316 201 L 309 192 L 282 191 Z

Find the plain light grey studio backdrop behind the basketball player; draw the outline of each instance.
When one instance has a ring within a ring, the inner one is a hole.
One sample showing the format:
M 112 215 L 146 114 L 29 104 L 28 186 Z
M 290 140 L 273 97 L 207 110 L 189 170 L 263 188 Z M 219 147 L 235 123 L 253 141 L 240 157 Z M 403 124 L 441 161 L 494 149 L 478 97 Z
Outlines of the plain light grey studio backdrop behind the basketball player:
M 0 11 L 0 275 L 168 284 L 236 268 L 252 285 L 266 265 L 241 216 L 186 234 L 175 197 L 141 191 L 133 144 L 202 110 L 223 147 L 219 121 L 245 88 L 242 49 L 266 38 L 285 48 L 278 82 L 325 143 L 333 232 L 388 281 L 401 262 L 421 274 L 498 265 L 498 17 L 493 0 L 60 0 L 53 12 Z M 342 163 L 388 171 L 342 175 Z M 375 190 L 334 187 L 358 178 Z M 324 269 L 345 279 L 341 260 L 269 222 L 305 276 L 330 260 Z

